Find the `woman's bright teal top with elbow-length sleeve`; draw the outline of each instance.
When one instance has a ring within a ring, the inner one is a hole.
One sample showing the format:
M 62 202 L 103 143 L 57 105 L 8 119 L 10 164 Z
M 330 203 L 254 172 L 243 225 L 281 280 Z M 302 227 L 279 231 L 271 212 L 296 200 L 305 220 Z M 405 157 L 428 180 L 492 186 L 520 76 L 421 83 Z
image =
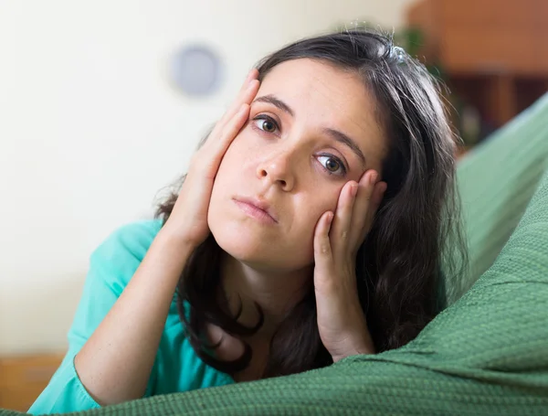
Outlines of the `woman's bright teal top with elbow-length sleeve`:
M 90 270 L 68 331 L 68 353 L 29 413 L 63 413 L 99 408 L 79 380 L 74 357 L 107 315 L 139 267 L 162 226 L 159 219 L 135 222 L 114 231 L 91 254 Z M 196 356 L 173 299 L 143 397 L 234 383 L 226 373 Z

